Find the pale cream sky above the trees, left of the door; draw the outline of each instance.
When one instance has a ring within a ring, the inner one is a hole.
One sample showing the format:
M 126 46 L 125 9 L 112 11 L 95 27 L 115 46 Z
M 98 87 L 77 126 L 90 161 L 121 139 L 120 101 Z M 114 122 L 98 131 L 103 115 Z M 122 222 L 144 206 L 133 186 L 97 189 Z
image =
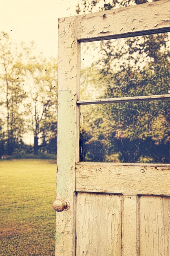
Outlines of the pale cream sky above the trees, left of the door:
M 0 31 L 17 43 L 33 40 L 38 52 L 55 57 L 58 18 L 76 15 L 76 5 L 77 0 L 0 0 Z

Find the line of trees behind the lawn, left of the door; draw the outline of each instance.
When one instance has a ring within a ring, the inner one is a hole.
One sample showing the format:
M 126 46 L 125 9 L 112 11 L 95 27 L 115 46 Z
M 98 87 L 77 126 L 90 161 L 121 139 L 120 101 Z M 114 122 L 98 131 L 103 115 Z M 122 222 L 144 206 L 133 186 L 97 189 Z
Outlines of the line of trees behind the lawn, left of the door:
M 0 33 L 0 157 L 56 155 L 57 59 L 35 50 Z

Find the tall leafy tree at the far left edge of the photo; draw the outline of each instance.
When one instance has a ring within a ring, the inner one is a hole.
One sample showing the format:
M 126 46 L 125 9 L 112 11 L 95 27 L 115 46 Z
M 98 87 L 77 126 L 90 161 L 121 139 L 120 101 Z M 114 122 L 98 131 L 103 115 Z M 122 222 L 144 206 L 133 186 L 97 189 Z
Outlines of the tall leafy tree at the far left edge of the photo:
M 26 114 L 22 108 L 26 95 L 22 87 L 22 54 L 18 47 L 10 40 L 7 33 L 0 33 L 0 90 L 1 111 L 6 127 L 2 133 L 7 137 L 6 153 L 11 155 L 18 143 L 22 141 L 24 133 L 24 118 Z M 3 110 L 2 110 L 3 108 Z

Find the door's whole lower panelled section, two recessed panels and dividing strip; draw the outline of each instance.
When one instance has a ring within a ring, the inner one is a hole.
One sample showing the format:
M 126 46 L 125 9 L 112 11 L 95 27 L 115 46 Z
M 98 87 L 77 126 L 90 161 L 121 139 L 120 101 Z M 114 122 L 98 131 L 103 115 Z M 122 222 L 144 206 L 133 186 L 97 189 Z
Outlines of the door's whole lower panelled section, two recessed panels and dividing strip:
M 77 256 L 169 256 L 170 197 L 77 193 Z

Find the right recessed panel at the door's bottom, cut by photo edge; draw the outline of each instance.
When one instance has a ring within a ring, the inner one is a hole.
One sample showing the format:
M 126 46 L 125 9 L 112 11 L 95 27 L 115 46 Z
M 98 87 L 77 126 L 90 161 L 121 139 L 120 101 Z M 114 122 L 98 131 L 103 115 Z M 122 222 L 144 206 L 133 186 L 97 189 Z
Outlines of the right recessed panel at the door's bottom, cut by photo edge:
M 139 198 L 140 256 L 170 256 L 170 198 Z

